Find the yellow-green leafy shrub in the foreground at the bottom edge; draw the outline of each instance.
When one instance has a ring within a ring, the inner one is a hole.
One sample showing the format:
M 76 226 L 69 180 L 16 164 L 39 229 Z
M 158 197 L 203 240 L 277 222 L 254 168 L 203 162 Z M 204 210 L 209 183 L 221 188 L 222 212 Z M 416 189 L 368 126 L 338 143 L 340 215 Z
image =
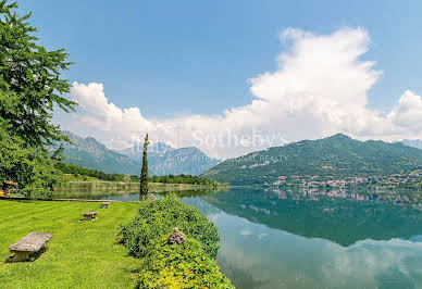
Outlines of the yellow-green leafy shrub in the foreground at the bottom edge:
M 140 288 L 234 288 L 193 238 L 169 244 L 169 235 L 151 242 L 150 255 L 139 271 Z

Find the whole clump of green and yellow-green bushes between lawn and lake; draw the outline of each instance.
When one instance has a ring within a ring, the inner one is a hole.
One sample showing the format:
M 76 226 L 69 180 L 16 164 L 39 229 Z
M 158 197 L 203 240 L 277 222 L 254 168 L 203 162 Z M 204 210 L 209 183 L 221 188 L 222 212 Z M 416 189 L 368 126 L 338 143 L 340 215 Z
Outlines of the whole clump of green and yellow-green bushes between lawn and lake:
M 175 227 L 186 240 L 169 244 Z M 174 194 L 142 201 L 120 236 L 132 254 L 145 259 L 140 288 L 234 288 L 215 262 L 220 241 L 215 225 Z

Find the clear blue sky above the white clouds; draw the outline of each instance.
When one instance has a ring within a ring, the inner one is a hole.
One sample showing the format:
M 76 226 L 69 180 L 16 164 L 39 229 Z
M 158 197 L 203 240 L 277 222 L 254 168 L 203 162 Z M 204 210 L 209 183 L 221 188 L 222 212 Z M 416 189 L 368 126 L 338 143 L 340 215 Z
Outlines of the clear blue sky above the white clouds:
M 18 3 L 33 11 L 45 46 L 71 54 L 71 81 L 101 83 L 110 102 L 151 120 L 251 103 L 248 79 L 277 68 L 277 55 L 289 49 L 280 34 L 288 27 L 315 35 L 364 29 L 371 42 L 360 60 L 383 72 L 368 91 L 370 109 L 392 110 L 407 89 L 422 93 L 421 1 Z

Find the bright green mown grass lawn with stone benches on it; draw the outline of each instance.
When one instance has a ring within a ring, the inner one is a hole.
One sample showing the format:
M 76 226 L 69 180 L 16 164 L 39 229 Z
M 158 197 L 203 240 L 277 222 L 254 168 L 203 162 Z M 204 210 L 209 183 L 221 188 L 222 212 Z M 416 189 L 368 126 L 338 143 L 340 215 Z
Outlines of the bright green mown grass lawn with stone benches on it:
M 134 288 L 138 260 L 116 243 L 119 225 L 136 203 L 0 200 L 0 288 Z M 92 222 L 80 213 L 97 211 Z M 8 248 L 30 231 L 51 233 L 48 250 L 34 262 L 3 263 Z

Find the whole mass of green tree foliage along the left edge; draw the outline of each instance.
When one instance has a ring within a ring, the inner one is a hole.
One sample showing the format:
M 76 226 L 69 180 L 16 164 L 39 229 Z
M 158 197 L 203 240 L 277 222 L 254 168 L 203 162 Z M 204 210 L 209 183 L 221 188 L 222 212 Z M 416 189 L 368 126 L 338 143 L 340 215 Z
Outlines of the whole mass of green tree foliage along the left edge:
M 21 17 L 16 9 L 0 1 L 0 183 L 16 181 L 28 198 L 51 198 L 63 175 L 60 150 L 51 155 L 47 146 L 69 140 L 51 120 L 54 108 L 76 105 L 62 96 L 70 84 L 60 73 L 71 63 L 63 49 L 39 46 L 30 13 Z

